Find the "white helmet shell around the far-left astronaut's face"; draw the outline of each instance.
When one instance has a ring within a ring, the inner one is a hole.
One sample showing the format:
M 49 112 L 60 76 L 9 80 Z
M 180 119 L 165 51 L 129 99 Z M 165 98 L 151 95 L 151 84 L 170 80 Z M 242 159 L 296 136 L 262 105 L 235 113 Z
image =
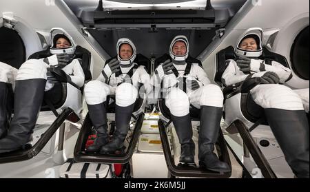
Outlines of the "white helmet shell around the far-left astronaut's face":
M 70 43 L 70 47 L 56 48 L 56 41 L 59 38 L 66 39 Z M 66 32 L 62 28 L 52 28 L 50 30 L 50 41 L 52 43 L 52 46 L 50 47 L 51 54 L 62 54 L 62 53 L 74 54 L 75 52 L 75 47 L 76 47 L 75 42 L 73 41 L 70 34 L 68 34 L 68 32 Z

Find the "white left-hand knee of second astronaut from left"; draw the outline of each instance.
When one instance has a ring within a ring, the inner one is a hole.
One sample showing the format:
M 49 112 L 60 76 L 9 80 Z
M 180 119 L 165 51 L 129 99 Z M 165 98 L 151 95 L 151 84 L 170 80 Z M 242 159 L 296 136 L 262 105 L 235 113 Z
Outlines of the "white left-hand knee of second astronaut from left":
M 110 89 L 101 81 L 90 81 L 84 87 L 85 100 L 88 105 L 96 105 L 105 102 L 110 95 Z

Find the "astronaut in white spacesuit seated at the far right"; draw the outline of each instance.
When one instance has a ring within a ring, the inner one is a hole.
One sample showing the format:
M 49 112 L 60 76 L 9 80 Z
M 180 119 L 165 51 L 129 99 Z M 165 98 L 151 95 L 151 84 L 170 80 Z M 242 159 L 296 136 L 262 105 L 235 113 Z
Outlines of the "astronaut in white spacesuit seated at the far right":
M 276 140 L 289 166 L 298 178 L 309 178 L 309 89 L 280 85 L 291 78 L 291 70 L 276 61 L 260 60 L 263 33 L 260 28 L 247 30 L 236 44 L 236 61 L 227 60 L 222 76 L 225 86 L 260 77 L 260 85 L 250 90 L 254 102 L 264 108 Z M 297 94 L 298 93 L 298 94 Z M 302 99 L 301 99 L 302 98 Z

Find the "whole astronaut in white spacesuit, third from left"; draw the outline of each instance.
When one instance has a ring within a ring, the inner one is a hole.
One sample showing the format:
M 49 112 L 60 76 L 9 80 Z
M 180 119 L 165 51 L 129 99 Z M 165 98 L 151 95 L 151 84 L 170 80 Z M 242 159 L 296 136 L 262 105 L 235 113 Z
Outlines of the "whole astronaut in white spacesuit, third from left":
M 180 162 L 194 164 L 195 145 L 192 140 L 192 122 L 189 105 L 200 109 L 198 159 L 200 167 L 213 171 L 229 172 L 214 151 L 223 112 L 223 92 L 211 84 L 198 63 L 187 62 L 189 43 L 186 36 L 176 36 L 169 48 L 170 58 L 159 65 L 152 76 L 152 84 L 168 89 L 165 104 L 181 145 Z

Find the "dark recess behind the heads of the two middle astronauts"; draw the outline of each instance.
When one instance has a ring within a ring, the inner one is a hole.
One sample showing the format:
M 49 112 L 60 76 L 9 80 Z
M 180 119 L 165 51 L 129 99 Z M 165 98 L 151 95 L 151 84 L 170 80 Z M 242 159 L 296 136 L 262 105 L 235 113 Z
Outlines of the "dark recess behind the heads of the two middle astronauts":
M 101 47 L 110 54 L 116 55 L 116 42 L 120 38 L 129 38 L 136 45 L 137 52 L 147 58 L 157 58 L 169 53 L 169 45 L 174 36 L 182 34 L 189 39 L 189 54 L 198 56 L 205 47 L 211 43 L 216 35 L 215 29 L 211 30 L 166 30 L 158 28 L 158 32 L 149 32 L 147 28 L 138 30 L 89 30 Z

